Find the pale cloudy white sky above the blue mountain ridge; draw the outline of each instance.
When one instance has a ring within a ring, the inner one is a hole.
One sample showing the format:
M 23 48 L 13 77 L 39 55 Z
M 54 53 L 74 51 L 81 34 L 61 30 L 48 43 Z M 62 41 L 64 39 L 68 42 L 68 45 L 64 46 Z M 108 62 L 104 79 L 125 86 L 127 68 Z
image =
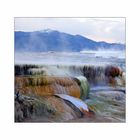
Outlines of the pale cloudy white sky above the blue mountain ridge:
M 125 43 L 125 18 L 15 18 L 16 31 L 48 28 L 96 41 Z

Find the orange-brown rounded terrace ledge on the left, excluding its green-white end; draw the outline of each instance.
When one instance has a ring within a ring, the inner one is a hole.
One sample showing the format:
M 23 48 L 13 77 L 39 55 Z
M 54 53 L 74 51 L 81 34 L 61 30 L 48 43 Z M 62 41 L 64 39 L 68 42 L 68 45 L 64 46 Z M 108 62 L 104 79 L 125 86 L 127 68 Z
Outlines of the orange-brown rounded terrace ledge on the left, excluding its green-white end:
M 81 96 L 81 89 L 73 78 L 51 76 L 16 76 L 15 90 L 22 94 L 48 96 L 54 94 L 68 94 L 77 98 Z

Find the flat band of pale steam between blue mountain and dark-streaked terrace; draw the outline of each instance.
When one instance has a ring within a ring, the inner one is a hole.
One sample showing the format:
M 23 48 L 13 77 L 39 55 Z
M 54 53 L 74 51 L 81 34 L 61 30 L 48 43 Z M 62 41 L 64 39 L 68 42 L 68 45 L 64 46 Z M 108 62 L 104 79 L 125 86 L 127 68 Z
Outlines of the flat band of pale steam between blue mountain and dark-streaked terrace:
M 108 65 L 125 60 L 124 51 L 93 51 L 81 52 L 16 52 L 15 64 L 40 65 Z

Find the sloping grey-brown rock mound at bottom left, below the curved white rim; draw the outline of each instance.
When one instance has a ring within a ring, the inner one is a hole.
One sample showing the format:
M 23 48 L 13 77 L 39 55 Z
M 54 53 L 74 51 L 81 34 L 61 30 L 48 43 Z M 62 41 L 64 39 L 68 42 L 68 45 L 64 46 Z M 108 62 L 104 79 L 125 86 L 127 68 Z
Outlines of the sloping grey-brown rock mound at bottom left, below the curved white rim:
M 81 111 L 56 96 L 41 98 L 19 94 L 15 98 L 15 122 L 37 122 L 38 118 L 44 122 L 64 122 L 79 117 L 82 117 Z

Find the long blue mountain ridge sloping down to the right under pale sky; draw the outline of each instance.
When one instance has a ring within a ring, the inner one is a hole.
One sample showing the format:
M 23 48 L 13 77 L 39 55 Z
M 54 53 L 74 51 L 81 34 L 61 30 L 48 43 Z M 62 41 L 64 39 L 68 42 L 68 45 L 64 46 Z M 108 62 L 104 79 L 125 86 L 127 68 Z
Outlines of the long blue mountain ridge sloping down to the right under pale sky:
M 71 35 L 51 29 L 22 32 L 15 31 L 15 51 L 47 52 L 117 49 L 124 50 L 119 43 L 97 42 L 81 35 Z

